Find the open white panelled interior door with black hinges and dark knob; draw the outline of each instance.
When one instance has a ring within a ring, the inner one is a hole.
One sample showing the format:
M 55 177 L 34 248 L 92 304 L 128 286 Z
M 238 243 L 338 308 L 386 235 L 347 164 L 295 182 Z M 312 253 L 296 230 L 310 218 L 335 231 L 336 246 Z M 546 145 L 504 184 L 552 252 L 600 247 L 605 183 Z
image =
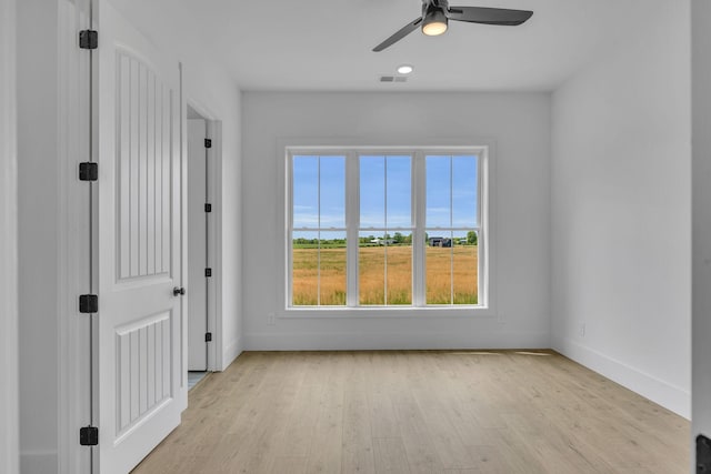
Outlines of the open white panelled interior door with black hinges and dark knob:
M 180 65 L 100 3 L 99 472 L 129 472 L 187 406 Z

